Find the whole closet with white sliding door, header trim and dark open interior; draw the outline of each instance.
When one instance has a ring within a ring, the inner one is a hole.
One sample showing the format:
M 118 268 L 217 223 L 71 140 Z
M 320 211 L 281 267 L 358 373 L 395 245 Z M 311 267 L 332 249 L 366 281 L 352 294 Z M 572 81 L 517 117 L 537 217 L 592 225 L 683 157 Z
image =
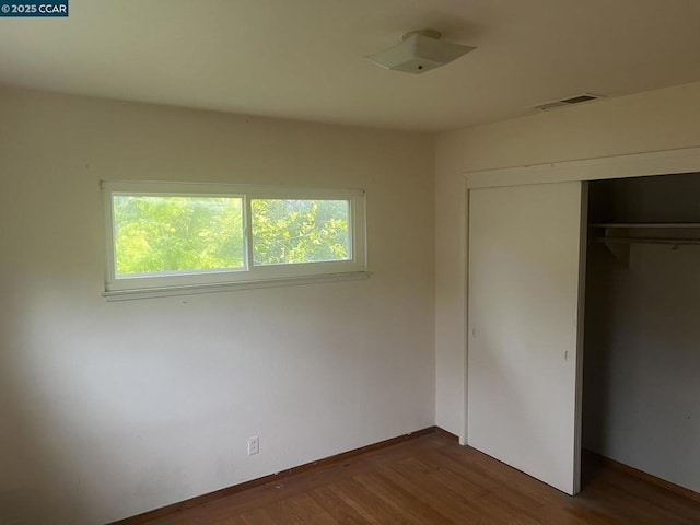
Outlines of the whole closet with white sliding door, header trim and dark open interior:
M 700 150 L 467 176 L 468 445 L 569 494 L 584 448 L 700 492 L 700 174 L 673 165 Z

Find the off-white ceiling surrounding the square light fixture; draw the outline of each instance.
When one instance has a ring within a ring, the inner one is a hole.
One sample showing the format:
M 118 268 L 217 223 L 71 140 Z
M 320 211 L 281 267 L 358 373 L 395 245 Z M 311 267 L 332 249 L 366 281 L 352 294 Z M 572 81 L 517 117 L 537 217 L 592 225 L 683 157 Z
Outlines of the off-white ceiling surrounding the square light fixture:
M 363 57 L 432 27 L 478 49 L 412 75 Z M 0 19 L 0 83 L 444 130 L 583 92 L 700 80 L 698 0 L 70 0 Z

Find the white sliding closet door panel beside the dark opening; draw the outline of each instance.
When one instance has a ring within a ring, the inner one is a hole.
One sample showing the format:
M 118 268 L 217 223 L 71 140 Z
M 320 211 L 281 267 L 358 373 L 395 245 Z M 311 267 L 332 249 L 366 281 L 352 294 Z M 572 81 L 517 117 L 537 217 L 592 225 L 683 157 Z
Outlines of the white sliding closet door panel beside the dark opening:
M 580 478 L 584 189 L 469 192 L 467 442 L 569 494 Z

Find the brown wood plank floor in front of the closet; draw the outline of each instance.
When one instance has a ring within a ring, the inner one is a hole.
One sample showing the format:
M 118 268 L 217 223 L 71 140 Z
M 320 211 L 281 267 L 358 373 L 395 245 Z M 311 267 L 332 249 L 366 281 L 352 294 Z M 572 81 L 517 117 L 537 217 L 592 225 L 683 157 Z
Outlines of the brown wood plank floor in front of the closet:
M 362 454 L 147 522 L 271 524 L 700 524 L 700 503 L 609 467 L 568 497 L 441 434 Z

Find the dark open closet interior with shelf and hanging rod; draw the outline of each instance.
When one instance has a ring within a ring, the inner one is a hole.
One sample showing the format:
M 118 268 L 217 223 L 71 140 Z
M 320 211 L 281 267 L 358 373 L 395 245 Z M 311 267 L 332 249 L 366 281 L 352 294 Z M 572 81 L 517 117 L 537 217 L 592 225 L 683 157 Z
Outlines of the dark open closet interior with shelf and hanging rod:
M 700 174 L 588 183 L 583 447 L 700 491 Z

